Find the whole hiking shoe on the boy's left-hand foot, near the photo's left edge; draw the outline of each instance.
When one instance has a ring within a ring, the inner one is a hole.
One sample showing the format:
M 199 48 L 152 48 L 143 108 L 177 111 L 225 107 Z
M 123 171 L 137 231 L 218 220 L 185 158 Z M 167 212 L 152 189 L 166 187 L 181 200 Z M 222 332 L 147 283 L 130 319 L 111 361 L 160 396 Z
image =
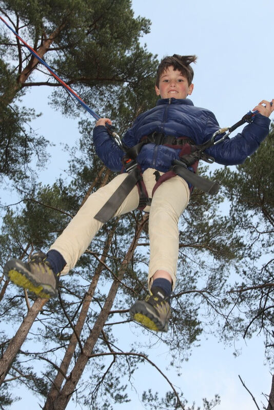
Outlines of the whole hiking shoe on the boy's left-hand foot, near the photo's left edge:
M 45 261 L 46 258 L 43 252 L 34 253 L 27 263 L 13 258 L 5 264 L 4 274 L 17 286 L 40 298 L 54 298 L 58 294 L 58 276 Z

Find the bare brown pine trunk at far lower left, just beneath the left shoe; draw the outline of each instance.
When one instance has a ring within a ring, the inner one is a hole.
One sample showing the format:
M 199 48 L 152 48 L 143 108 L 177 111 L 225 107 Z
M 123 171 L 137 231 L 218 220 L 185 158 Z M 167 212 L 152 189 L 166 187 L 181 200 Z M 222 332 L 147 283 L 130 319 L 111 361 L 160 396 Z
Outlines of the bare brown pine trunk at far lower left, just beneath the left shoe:
M 9 345 L 0 360 L 0 385 L 4 382 L 8 371 L 10 370 L 10 366 L 12 365 L 15 356 L 17 355 L 19 349 L 21 348 L 22 344 L 24 343 L 29 330 L 38 315 L 38 313 L 43 308 L 44 304 L 48 301 L 48 299 L 37 299 L 32 304 L 31 308 L 29 309 L 27 316 L 21 323 L 21 326 L 17 330 L 15 336 L 9 342 Z

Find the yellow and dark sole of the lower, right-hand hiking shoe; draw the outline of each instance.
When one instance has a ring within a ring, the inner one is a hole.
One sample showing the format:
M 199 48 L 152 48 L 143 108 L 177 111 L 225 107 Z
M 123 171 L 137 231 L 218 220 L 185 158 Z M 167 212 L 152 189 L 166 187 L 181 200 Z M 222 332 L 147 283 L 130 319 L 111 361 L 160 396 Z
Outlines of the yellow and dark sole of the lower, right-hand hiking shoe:
M 167 332 L 168 330 L 168 324 L 163 326 L 160 320 L 147 310 L 144 302 L 134 303 L 130 308 L 130 316 L 132 320 L 141 323 L 154 332 Z

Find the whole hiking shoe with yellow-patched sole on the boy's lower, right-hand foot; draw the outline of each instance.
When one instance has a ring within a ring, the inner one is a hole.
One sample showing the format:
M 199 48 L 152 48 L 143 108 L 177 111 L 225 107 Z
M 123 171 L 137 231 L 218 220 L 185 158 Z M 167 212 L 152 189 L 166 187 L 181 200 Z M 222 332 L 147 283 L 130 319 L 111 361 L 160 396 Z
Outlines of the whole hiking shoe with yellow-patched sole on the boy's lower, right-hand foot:
M 131 319 L 156 332 L 167 332 L 170 318 L 168 297 L 161 288 L 152 288 L 145 300 L 138 300 L 129 309 Z

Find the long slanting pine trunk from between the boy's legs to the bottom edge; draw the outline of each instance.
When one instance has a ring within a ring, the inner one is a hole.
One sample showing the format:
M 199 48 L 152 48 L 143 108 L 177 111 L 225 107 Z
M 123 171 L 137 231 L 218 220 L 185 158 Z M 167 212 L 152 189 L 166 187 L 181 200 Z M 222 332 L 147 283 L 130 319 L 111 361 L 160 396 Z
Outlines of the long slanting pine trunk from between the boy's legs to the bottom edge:
M 145 215 L 142 218 L 141 222 L 136 227 L 135 236 L 134 236 L 134 238 L 131 242 L 131 245 L 128 249 L 128 252 L 126 253 L 126 256 L 125 256 L 125 258 L 122 262 L 121 269 L 117 274 L 117 277 L 118 277 L 119 281 L 114 280 L 112 282 L 112 285 L 111 285 L 110 291 L 108 293 L 106 302 L 103 306 L 103 309 L 102 309 L 101 313 L 99 314 L 96 322 L 94 323 L 93 329 L 92 329 L 89 337 L 87 338 L 87 341 L 86 341 L 86 343 L 83 347 L 82 352 L 79 355 L 79 358 L 77 359 L 77 361 L 76 361 L 76 363 L 75 363 L 75 365 L 72 369 L 72 372 L 70 373 L 69 377 L 67 378 L 67 381 L 64 384 L 62 390 L 60 391 L 60 393 L 56 397 L 56 399 L 53 403 L 52 410 L 53 409 L 54 410 L 64 410 L 66 408 L 70 398 L 71 398 L 72 393 L 75 391 L 76 385 L 79 382 L 79 380 L 80 380 L 80 378 L 81 378 L 81 376 L 84 372 L 85 366 L 86 366 L 86 364 L 89 360 L 90 355 L 92 354 L 94 345 L 95 345 L 97 339 L 99 338 L 99 336 L 100 336 L 100 334 L 103 330 L 104 324 L 105 324 L 105 322 L 108 318 L 109 311 L 111 309 L 114 298 L 115 298 L 116 293 L 118 291 L 118 288 L 119 288 L 119 285 L 120 285 L 120 280 L 123 278 L 126 267 L 127 267 L 128 263 L 130 262 L 130 260 L 133 256 L 134 250 L 135 250 L 136 245 L 138 243 L 138 239 L 139 239 L 140 234 L 143 230 L 144 223 L 147 221 L 147 219 L 148 219 L 148 216 Z

